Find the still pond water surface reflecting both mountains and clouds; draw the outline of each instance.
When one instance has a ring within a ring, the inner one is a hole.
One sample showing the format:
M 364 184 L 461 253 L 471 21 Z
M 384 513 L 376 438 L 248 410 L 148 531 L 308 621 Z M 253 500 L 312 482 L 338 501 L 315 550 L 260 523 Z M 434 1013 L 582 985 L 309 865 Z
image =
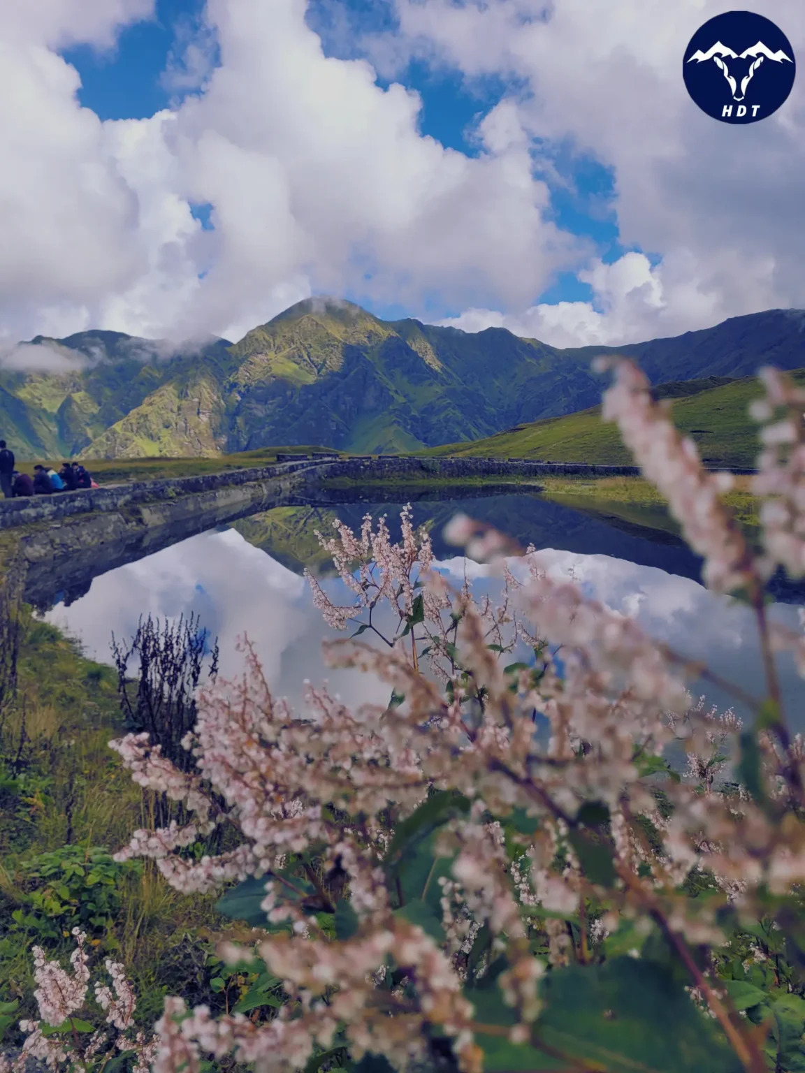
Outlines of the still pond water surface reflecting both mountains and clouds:
M 413 498 L 413 497 L 407 497 Z M 243 666 L 236 638 L 244 633 L 254 644 L 273 689 L 298 703 L 304 679 L 328 679 L 331 689 L 350 705 L 385 703 L 383 684 L 352 671 L 324 665 L 321 642 L 335 636 L 313 607 L 301 576 L 304 565 L 326 561 L 312 530 L 333 532 L 340 517 L 357 529 L 366 513 L 387 514 L 393 539 L 399 533 L 400 503 L 339 503 L 279 508 L 235 523 L 234 528 L 203 533 L 96 577 L 86 594 L 70 606 L 46 613 L 49 621 L 80 638 L 88 656 L 109 660 L 109 637 L 131 635 L 141 615 L 174 617 L 194 612 L 221 645 L 224 676 Z M 444 545 L 441 529 L 457 511 L 494 523 L 523 545 L 533 543 L 544 569 L 555 577 L 573 577 L 584 592 L 623 614 L 634 615 L 654 636 L 682 653 L 704 660 L 720 676 L 749 692 L 762 691 L 751 613 L 726 598 L 707 592 L 697 580 L 700 560 L 672 534 L 638 524 L 609 524 L 569 506 L 529 494 L 472 498 L 469 501 L 420 501 L 415 525 L 431 524 L 434 549 L 442 569 L 460 582 L 465 569 L 477 593 L 499 591 L 498 579 L 485 568 L 455 555 Z M 323 587 L 336 603 L 351 603 L 340 578 L 326 577 Z M 54 579 L 53 596 L 57 597 Z M 796 628 L 796 591 L 791 603 L 771 608 L 773 617 Z M 805 600 L 796 602 L 805 603 Z M 366 637 L 368 635 L 364 635 Z M 796 707 L 802 680 L 787 658 L 780 660 L 789 720 L 805 730 Z M 693 687 L 692 692 L 698 692 Z M 726 706 L 729 699 L 712 687 L 708 701 Z

